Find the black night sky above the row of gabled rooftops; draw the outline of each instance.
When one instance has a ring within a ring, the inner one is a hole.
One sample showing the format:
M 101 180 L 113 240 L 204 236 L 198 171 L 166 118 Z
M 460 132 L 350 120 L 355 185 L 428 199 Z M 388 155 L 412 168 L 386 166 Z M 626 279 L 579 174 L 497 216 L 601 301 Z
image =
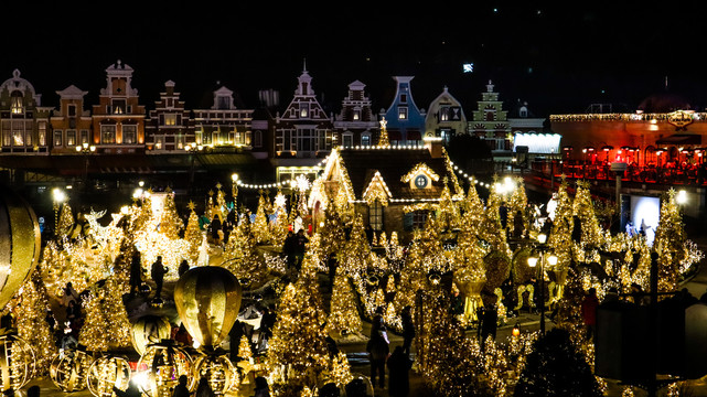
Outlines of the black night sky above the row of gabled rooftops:
M 0 81 L 19 68 L 43 105 L 71 84 L 90 103 L 119 58 L 135 68 L 148 108 L 168 79 L 190 108 L 216 82 L 255 107 L 261 88 L 279 89 L 287 104 L 306 58 L 314 90 L 334 109 L 355 79 L 375 109 L 387 107 L 394 75 L 415 76 L 413 97 L 424 108 L 447 85 L 470 111 L 492 79 L 506 104 L 526 100 L 543 117 L 592 103 L 633 111 L 665 90 L 666 76 L 693 108 L 707 105 L 699 2 L 142 3 L 8 4 Z M 462 73 L 464 62 L 474 63 L 472 74 Z

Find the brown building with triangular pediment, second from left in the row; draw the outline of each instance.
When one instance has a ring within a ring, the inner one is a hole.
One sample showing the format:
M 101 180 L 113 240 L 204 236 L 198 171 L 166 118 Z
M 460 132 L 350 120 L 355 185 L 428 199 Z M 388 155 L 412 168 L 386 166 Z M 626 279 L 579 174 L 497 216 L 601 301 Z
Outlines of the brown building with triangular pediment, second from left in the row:
M 71 85 L 56 94 L 58 109 L 50 118 L 52 154 L 76 154 L 84 144 L 94 146 L 90 110 L 84 109 L 84 97 L 88 92 Z

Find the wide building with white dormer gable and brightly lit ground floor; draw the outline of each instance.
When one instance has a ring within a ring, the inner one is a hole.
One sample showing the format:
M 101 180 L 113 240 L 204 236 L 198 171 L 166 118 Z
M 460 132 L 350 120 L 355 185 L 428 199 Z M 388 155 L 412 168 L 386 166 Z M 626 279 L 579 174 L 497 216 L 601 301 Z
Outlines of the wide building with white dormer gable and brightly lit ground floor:
M 253 112 L 253 109 L 246 109 L 240 104 L 233 90 L 226 86 L 219 86 L 213 92 L 213 103 L 210 108 L 194 109 L 196 144 L 250 150 Z

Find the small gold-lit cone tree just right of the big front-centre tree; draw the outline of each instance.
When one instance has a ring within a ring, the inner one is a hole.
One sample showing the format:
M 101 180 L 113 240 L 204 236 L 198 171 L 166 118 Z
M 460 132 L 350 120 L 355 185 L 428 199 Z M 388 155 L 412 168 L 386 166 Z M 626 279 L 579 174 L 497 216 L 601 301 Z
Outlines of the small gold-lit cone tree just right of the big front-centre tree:
M 357 300 L 349 277 L 336 270 L 326 320 L 326 329 L 331 334 L 342 336 L 362 333 L 363 324 L 356 305 Z

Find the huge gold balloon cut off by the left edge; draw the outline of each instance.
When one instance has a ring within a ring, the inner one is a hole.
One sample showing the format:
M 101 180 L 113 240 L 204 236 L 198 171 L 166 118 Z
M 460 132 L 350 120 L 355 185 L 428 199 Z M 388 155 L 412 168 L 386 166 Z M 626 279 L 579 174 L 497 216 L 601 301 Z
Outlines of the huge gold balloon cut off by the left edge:
M 30 276 L 41 248 L 34 211 L 11 189 L 0 185 L 0 309 Z

